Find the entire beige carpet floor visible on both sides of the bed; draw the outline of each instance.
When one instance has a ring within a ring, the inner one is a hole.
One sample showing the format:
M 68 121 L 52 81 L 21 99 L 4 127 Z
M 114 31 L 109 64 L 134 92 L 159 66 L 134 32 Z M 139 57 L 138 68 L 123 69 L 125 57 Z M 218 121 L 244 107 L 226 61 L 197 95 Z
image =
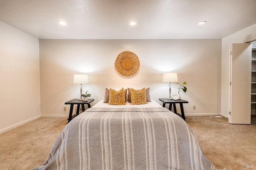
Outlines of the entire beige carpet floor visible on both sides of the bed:
M 190 116 L 203 152 L 216 168 L 256 170 L 256 118 L 231 125 L 227 118 Z M 0 134 L 0 170 L 30 170 L 46 160 L 66 118 L 40 118 Z

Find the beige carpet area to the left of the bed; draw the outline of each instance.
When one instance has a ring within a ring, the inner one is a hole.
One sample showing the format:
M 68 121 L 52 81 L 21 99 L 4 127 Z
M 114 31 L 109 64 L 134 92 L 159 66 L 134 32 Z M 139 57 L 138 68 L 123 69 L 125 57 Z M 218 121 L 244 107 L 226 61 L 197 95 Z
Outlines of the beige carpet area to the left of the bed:
M 42 165 L 67 123 L 67 118 L 40 118 L 0 134 L 0 170 Z

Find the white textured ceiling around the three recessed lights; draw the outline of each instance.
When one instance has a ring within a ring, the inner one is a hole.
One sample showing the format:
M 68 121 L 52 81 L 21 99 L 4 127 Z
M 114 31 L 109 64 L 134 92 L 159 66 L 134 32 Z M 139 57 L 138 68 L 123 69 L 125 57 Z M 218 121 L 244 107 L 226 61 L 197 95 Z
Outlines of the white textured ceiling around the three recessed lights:
M 39 39 L 220 39 L 256 24 L 255 7 L 256 0 L 0 0 L 0 20 Z

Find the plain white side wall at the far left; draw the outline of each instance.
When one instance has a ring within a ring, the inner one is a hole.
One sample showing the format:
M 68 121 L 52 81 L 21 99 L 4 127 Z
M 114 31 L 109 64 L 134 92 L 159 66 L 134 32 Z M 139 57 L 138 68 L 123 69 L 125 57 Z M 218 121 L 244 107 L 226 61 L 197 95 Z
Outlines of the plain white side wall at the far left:
M 0 21 L 0 133 L 40 116 L 39 41 Z

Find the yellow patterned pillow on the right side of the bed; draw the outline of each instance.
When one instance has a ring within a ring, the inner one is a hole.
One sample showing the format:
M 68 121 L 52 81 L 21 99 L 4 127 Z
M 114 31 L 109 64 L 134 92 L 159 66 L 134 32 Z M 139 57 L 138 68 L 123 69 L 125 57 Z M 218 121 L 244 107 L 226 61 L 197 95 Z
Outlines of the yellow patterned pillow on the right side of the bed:
M 141 89 L 140 91 L 131 89 L 131 102 L 131 105 L 148 104 L 145 88 Z

